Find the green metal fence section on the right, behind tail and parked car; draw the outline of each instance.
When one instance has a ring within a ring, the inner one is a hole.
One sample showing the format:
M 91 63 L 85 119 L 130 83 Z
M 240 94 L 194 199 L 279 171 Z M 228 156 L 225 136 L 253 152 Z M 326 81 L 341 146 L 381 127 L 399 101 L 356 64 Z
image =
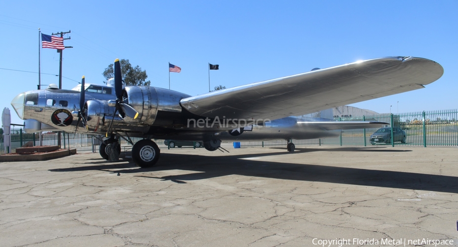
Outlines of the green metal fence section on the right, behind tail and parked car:
M 458 146 L 458 111 L 429 111 L 403 114 L 378 114 L 354 118 L 337 118 L 336 121 L 378 121 L 389 123 L 393 136 L 393 127 L 406 132 L 406 143 L 371 143 L 370 135 L 378 128 L 343 130 L 336 138 L 292 140 L 296 146 Z M 284 146 L 287 141 L 242 142 L 241 147 Z

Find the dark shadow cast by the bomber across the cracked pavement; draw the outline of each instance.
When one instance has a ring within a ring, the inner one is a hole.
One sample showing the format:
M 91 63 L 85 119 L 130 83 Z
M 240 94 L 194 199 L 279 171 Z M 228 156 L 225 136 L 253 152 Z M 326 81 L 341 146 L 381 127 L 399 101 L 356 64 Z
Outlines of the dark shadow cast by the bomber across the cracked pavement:
M 355 148 L 344 148 L 355 151 Z M 307 149 L 310 151 L 309 149 Z M 323 149 L 316 149 L 324 151 Z M 330 149 L 342 151 L 340 149 Z M 371 150 L 374 151 L 374 150 Z M 387 150 L 387 151 L 410 151 L 410 150 Z M 73 172 L 99 170 L 110 173 L 128 174 L 138 173 L 138 177 L 171 180 L 177 183 L 201 180 L 228 175 L 242 175 L 252 177 L 275 178 L 297 181 L 317 181 L 337 184 L 353 184 L 362 186 L 376 186 L 402 189 L 418 189 L 438 191 L 445 193 L 458 193 L 458 177 L 445 175 L 421 174 L 415 172 L 397 172 L 382 170 L 367 170 L 359 168 L 342 168 L 333 166 L 321 166 L 317 164 L 297 164 L 289 162 L 273 162 L 262 159 L 242 159 L 253 157 L 265 157 L 273 155 L 290 154 L 264 153 L 226 156 L 202 156 L 189 154 L 162 153 L 161 159 L 155 167 L 142 169 L 137 168 L 132 162 L 109 163 L 106 165 L 53 169 L 52 172 Z M 285 157 L 287 158 L 287 157 Z M 377 164 L 377 161 L 373 161 Z M 383 166 L 383 163 L 380 163 Z M 192 171 L 188 174 L 155 177 L 145 175 L 147 172 L 182 170 Z M 141 175 L 140 175 L 141 174 Z

